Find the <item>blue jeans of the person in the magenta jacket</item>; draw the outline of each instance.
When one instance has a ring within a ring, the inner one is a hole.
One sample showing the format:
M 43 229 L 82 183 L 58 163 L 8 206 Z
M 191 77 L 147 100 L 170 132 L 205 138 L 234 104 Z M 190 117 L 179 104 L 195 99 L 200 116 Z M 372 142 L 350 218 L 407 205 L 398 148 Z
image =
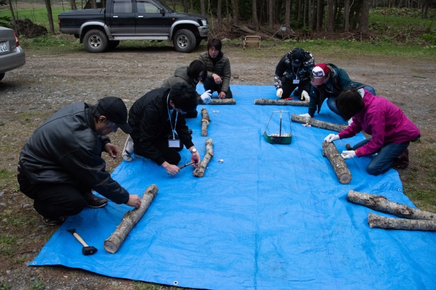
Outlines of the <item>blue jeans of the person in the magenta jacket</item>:
M 357 148 L 367 144 L 370 142 L 372 137 L 363 140 L 362 142 L 358 142 L 358 144 L 354 145 L 352 150 L 356 150 Z M 399 155 L 406 151 L 410 142 L 403 143 L 390 143 L 385 144 L 381 149 L 377 152 L 377 155 L 371 160 L 370 164 L 368 164 L 366 171 L 370 175 L 379 175 L 388 171 L 389 168 L 392 167 L 392 164 L 398 160 Z

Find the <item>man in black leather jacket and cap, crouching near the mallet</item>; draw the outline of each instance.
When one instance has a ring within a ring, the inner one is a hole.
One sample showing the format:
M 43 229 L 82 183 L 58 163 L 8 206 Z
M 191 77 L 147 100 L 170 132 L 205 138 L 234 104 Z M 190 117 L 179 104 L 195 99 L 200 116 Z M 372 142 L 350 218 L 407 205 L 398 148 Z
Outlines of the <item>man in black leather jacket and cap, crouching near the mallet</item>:
M 105 97 L 95 106 L 79 102 L 65 106 L 43 122 L 19 156 L 20 190 L 34 200 L 46 224 L 62 224 L 84 206 L 100 208 L 107 199 L 138 208 L 141 199 L 129 193 L 106 171 L 102 151 L 120 155 L 108 135 L 118 127 L 130 133 L 127 108 L 118 97 Z

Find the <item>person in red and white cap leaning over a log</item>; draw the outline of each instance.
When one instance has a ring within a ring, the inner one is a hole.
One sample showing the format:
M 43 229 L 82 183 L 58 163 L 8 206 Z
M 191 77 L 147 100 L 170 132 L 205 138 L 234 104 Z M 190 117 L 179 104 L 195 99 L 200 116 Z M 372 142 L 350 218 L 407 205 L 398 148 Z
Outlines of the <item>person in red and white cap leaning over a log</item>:
M 343 68 L 338 68 L 334 64 L 317 64 L 312 69 L 311 78 L 309 111 L 300 115 L 302 117 L 314 117 L 317 110 L 319 114 L 325 99 L 330 110 L 340 115 L 336 108 L 336 97 L 348 88 L 365 88 L 372 95 L 376 95 L 372 86 L 352 81 Z

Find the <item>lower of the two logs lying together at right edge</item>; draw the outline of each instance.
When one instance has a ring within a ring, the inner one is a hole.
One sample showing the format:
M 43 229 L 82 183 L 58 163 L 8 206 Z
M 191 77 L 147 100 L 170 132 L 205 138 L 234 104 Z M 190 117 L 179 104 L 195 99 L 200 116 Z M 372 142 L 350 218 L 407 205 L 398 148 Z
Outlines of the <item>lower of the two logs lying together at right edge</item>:
M 408 220 L 403 218 L 387 218 L 374 213 L 368 214 L 370 228 L 401 229 L 408 231 L 436 231 L 436 220 Z

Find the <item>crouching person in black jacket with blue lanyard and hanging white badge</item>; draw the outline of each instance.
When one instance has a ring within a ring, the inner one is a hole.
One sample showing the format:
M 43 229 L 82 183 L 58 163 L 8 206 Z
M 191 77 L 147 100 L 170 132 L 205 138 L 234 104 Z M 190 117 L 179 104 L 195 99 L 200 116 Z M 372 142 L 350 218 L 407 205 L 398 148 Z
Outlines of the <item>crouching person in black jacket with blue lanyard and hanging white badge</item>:
M 192 143 L 185 114 L 197 108 L 197 92 L 186 83 L 150 90 L 129 110 L 130 137 L 134 153 L 153 160 L 169 175 L 179 173 L 179 151 L 183 145 L 191 153 L 192 166 L 201 161 Z

